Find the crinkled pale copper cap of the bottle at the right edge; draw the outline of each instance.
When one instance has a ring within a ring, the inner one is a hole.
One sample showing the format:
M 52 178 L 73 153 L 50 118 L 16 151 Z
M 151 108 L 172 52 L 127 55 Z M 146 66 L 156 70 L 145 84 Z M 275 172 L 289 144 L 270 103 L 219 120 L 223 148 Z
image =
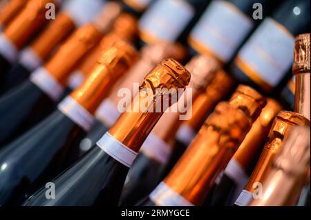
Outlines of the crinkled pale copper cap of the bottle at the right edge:
M 299 34 L 296 37 L 292 72 L 310 74 L 310 33 Z

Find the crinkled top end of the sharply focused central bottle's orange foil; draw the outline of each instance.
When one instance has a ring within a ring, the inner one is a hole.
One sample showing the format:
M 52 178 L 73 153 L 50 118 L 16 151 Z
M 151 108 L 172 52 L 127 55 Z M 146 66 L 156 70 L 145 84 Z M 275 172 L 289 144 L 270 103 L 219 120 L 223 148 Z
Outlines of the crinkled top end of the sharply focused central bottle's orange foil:
M 189 84 L 191 78 L 190 72 L 175 59 L 164 59 L 164 61 L 160 63 L 160 66 L 169 69 L 168 74 L 171 75 L 176 82 L 180 83 L 183 88 Z

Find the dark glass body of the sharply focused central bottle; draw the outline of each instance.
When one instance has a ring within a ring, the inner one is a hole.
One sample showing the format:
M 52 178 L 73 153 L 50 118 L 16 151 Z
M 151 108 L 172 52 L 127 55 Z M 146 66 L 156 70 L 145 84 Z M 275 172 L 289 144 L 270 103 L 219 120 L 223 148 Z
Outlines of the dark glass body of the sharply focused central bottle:
M 55 199 L 46 199 L 46 188 L 41 188 L 23 206 L 117 206 L 128 170 L 94 146 L 51 181 Z

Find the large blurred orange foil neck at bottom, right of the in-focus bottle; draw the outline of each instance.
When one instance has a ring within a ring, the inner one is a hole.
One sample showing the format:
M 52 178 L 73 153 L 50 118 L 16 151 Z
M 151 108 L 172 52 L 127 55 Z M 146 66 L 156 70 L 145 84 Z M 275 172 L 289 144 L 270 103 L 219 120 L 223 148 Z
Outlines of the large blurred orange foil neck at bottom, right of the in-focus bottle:
M 228 103 L 220 103 L 216 108 L 205 121 L 187 153 L 164 179 L 170 188 L 196 206 L 205 199 L 211 188 L 210 183 L 213 183 L 220 170 L 225 168 L 251 126 L 249 118 Z M 236 117 L 231 118 L 233 115 Z M 232 121 L 228 120 L 229 117 Z M 237 121 L 239 126 L 236 126 Z M 238 131 L 238 137 L 234 137 L 233 133 L 224 127 Z

